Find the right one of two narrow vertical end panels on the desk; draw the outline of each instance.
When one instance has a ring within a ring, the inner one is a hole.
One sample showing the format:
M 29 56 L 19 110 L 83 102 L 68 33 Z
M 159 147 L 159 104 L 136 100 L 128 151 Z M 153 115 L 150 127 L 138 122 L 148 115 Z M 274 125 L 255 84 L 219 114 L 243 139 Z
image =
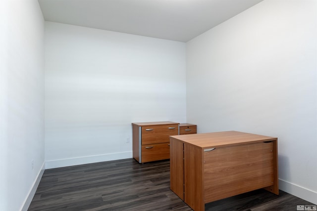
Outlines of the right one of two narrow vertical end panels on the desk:
M 195 211 L 204 211 L 203 149 L 184 143 L 184 201 Z

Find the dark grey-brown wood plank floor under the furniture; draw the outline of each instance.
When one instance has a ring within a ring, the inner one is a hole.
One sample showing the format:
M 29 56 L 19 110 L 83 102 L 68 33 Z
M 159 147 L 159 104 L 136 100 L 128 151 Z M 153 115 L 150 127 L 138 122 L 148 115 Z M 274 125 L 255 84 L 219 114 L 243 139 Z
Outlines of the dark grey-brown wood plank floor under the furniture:
M 256 190 L 205 205 L 206 211 L 296 211 L 313 205 Z M 45 170 L 28 211 L 191 211 L 169 189 L 169 161 L 133 159 Z

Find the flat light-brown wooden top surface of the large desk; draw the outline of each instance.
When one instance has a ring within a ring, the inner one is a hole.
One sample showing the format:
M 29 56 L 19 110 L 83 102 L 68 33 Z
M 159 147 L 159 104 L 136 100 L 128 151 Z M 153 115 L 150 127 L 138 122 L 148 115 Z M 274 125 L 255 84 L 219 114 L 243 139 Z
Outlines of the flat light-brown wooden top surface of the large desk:
M 176 139 L 184 143 L 189 143 L 201 147 L 203 149 L 211 147 L 224 147 L 229 145 L 248 144 L 252 142 L 256 143 L 263 141 L 277 141 L 276 137 L 238 131 L 172 135 L 169 137 L 171 139 Z

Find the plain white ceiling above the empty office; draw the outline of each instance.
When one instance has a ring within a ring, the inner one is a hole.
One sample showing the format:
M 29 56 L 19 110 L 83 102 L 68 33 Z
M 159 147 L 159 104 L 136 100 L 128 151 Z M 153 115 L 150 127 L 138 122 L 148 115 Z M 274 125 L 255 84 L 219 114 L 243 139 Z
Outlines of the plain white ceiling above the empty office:
M 46 21 L 187 42 L 262 0 L 39 0 Z

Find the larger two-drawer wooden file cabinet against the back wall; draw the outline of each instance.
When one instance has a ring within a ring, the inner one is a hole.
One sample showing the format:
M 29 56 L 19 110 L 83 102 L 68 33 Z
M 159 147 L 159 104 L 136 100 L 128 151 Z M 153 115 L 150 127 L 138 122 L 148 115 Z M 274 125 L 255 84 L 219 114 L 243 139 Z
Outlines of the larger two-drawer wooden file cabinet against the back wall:
M 139 163 L 169 159 L 169 136 L 178 135 L 179 123 L 132 123 L 133 158 Z

